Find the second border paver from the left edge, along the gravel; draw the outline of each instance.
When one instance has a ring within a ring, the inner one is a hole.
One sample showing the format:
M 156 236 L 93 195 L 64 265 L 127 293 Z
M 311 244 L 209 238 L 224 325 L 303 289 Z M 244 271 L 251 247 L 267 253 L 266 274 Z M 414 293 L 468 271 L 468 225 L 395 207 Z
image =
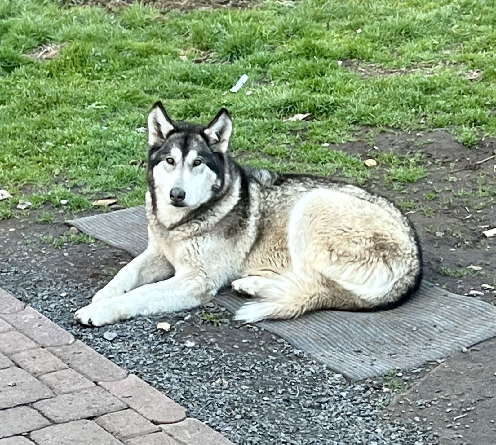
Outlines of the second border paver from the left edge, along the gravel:
M 0 315 L 0 318 L 40 346 L 58 346 L 74 342 L 71 334 L 30 307 L 20 312 Z

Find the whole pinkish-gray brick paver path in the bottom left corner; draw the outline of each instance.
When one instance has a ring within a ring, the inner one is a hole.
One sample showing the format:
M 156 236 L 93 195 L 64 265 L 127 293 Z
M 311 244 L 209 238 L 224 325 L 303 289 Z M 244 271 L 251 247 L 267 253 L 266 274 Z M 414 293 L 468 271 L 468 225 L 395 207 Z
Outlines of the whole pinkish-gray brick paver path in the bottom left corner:
M 233 445 L 0 289 L 0 445 Z

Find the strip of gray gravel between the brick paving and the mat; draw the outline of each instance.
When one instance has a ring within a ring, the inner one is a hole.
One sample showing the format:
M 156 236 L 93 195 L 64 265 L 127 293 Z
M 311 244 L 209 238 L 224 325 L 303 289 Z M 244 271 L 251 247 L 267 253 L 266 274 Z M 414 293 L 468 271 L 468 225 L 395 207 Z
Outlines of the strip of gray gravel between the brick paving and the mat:
M 0 286 L 234 443 L 437 443 L 429 427 L 380 418 L 393 394 L 383 391 L 384 381 L 350 383 L 285 340 L 233 322 L 213 303 L 102 328 L 74 324 L 73 312 L 130 258 L 99 242 L 57 249 L 40 239 L 65 230 L 0 222 Z M 170 323 L 170 331 L 156 330 L 158 322 Z

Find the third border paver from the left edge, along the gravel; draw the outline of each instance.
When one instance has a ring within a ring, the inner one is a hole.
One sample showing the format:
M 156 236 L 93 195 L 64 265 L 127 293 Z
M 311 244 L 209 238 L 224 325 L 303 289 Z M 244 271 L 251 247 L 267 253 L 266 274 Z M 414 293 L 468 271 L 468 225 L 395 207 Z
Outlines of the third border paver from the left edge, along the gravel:
M 67 346 L 49 347 L 48 349 L 92 382 L 120 380 L 127 376 L 124 369 L 79 340 Z

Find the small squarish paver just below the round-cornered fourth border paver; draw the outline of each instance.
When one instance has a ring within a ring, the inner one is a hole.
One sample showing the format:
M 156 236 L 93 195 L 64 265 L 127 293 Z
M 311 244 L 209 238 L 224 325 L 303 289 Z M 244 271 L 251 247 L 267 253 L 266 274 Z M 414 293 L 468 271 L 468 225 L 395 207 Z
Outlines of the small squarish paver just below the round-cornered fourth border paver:
M 96 419 L 95 422 L 117 439 L 130 439 L 160 431 L 157 426 L 132 409 L 105 414 Z

